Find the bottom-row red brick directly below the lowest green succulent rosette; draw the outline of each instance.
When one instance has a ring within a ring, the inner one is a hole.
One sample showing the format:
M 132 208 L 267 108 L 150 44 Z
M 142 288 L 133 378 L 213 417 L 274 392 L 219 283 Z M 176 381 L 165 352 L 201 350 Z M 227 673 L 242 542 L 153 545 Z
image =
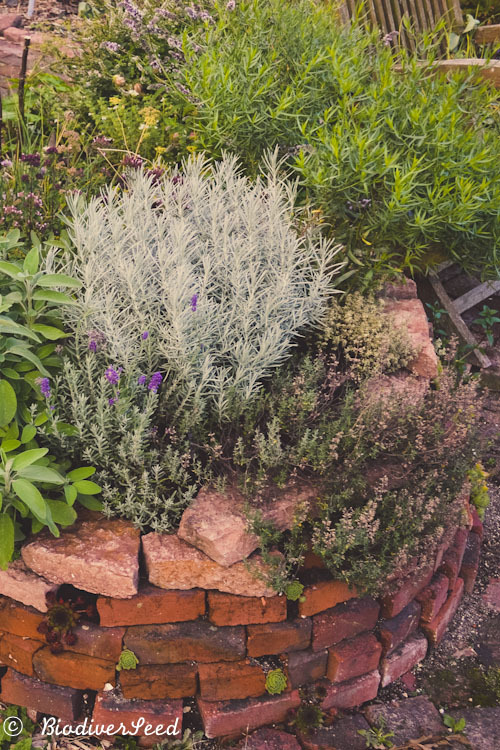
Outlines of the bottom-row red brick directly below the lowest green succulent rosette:
M 239 735 L 265 724 L 282 722 L 287 713 L 300 706 L 298 690 L 241 701 L 204 701 L 198 698 L 205 734 L 208 738 Z

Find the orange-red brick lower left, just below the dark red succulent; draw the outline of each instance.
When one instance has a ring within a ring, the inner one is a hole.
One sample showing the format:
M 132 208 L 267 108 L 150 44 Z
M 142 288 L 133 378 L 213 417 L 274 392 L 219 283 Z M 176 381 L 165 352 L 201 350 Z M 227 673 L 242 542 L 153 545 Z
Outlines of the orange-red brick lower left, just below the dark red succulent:
M 33 667 L 40 680 L 77 690 L 102 690 L 107 682 L 115 681 L 113 662 L 68 651 L 53 654 L 42 648 L 33 657 Z

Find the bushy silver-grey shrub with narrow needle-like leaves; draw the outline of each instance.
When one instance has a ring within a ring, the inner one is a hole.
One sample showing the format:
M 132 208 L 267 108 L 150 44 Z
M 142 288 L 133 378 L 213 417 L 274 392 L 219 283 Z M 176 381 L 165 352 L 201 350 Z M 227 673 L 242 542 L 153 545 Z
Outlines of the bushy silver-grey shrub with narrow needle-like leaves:
M 126 370 L 161 370 L 184 405 L 223 418 L 320 319 L 340 267 L 332 242 L 297 233 L 295 188 L 275 159 L 267 167 L 251 183 L 231 156 L 212 167 L 195 157 L 159 183 L 139 170 L 123 193 L 70 202 L 69 271 L 83 286 L 68 322 L 101 332 Z

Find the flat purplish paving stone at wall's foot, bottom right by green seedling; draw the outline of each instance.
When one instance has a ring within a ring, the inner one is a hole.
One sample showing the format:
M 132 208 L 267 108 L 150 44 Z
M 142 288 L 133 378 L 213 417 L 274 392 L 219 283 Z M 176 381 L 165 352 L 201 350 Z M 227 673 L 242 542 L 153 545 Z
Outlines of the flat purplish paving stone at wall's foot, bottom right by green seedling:
M 445 731 L 439 711 L 424 695 L 392 703 L 374 704 L 368 706 L 364 713 L 372 726 L 380 726 L 380 721 L 385 720 L 385 731 L 394 732 L 391 741 L 395 745 Z

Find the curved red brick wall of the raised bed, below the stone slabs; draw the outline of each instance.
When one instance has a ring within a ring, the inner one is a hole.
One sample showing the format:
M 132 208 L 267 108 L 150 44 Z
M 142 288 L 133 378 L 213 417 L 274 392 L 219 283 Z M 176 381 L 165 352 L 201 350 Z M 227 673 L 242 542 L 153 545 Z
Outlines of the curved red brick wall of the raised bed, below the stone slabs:
M 100 623 L 79 624 L 76 642 L 57 654 L 38 631 L 44 614 L 27 606 L 26 587 L 24 604 L 9 589 L 0 597 L 0 699 L 65 721 L 84 709 L 95 723 L 151 716 L 182 724 L 183 700 L 195 698 L 208 737 L 284 720 L 309 683 L 324 686 L 325 709 L 359 706 L 439 643 L 471 590 L 482 526 L 469 516 L 470 528 L 448 533 L 433 565 L 393 582 L 378 601 L 332 580 L 306 587 L 298 607 L 280 596 L 144 583 L 128 599 L 98 596 Z M 40 607 L 39 590 L 35 577 Z M 116 670 L 123 648 L 136 654 L 136 669 Z M 281 695 L 266 692 L 263 656 L 281 661 Z

